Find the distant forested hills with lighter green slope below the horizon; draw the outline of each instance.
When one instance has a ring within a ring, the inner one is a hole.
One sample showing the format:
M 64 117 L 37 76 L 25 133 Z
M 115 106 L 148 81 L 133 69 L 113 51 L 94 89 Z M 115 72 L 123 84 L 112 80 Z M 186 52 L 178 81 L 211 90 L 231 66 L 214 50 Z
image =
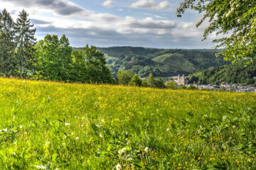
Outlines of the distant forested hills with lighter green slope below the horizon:
M 215 57 L 217 50 L 166 50 L 144 47 L 97 47 L 105 53 L 114 77 L 119 69 L 132 69 L 140 77 L 193 74 L 209 67 L 228 64 Z

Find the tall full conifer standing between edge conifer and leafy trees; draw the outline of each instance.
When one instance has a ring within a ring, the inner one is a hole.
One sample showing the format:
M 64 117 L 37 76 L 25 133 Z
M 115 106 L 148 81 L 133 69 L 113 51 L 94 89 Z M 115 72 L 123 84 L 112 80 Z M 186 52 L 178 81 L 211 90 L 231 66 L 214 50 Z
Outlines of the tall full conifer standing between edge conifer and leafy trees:
M 14 30 L 16 32 L 17 42 L 17 60 L 20 72 L 20 78 L 23 74 L 27 75 L 28 70 L 33 66 L 33 51 L 36 44 L 36 28 L 28 19 L 28 13 L 23 9 L 18 15 Z

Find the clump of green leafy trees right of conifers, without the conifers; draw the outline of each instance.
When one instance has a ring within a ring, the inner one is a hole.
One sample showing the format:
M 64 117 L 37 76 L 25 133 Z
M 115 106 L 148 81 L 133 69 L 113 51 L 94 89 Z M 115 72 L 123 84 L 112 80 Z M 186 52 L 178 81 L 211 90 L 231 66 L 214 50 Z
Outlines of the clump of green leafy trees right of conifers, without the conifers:
M 96 47 L 73 50 L 63 35 L 46 35 L 36 45 L 36 77 L 55 81 L 113 83 L 105 57 Z

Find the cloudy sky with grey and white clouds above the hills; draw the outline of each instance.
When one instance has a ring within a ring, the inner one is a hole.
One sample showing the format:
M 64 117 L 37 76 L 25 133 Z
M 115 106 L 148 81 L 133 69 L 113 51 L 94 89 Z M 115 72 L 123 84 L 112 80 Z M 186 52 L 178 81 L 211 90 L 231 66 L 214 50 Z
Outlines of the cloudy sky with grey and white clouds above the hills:
M 28 11 L 37 28 L 36 38 L 67 35 L 71 45 L 98 47 L 210 48 L 201 42 L 207 23 L 196 28 L 201 15 L 188 11 L 176 17 L 182 0 L 0 0 L 14 20 Z

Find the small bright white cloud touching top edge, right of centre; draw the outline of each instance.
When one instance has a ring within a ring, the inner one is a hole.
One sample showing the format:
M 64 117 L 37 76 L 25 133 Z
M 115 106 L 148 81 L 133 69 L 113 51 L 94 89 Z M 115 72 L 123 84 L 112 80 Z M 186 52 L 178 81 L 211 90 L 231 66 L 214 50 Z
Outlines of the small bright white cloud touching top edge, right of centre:
M 169 8 L 169 1 L 161 1 L 159 4 L 154 0 L 138 0 L 130 6 L 131 8 L 150 8 L 154 10 L 163 10 Z

